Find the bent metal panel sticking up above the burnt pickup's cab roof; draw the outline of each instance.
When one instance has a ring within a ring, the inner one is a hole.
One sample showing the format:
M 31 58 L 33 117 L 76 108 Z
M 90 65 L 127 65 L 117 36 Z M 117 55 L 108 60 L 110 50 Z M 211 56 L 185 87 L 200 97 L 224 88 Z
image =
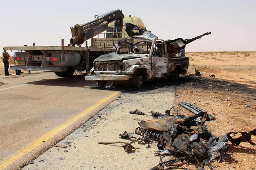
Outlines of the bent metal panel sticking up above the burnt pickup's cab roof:
M 152 34 L 151 32 L 131 23 L 125 24 L 125 31 L 127 32 L 128 36 L 132 38 L 138 38 L 138 39 L 144 39 L 144 40 L 150 40 L 150 41 L 154 41 L 158 39 L 158 37 Z

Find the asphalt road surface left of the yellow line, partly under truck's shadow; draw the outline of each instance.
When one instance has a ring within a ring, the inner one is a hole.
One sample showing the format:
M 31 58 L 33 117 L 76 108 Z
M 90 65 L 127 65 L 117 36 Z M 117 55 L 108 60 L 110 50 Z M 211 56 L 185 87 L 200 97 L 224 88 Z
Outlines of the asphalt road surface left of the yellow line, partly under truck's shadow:
M 115 92 L 84 76 L 52 72 L 1 76 L 0 82 L 0 161 Z

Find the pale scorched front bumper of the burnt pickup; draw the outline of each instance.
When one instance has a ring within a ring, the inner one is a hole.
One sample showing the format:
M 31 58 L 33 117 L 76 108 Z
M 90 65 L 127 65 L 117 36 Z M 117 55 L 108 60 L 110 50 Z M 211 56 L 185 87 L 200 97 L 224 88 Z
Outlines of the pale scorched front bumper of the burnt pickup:
M 129 80 L 130 75 L 97 75 L 85 76 L 86 81 L 124 81 Z

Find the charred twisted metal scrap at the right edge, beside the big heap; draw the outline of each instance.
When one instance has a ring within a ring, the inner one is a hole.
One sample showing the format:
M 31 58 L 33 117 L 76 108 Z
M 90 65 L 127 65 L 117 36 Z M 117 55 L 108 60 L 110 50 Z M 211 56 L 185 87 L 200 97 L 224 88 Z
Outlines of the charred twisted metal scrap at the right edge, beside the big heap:
M 237 133 L 241 133 L 242 136 L 239 136 L 238 138 L 235 138 L 235 139 L 230 136 L 231 134 L 237 134 Z M 227 133 L 228 140 L 232 144 L 236 144 L 237 146 L 241 142 L 249 142 L 251 145 L 256 145 L 255 143 L 253 143 L 251 141 L 252 135 L 256 136 L 256 129 L 254 129 L 253 131 L 247 131 L 247 132 L 229 132 L 229 133 Z

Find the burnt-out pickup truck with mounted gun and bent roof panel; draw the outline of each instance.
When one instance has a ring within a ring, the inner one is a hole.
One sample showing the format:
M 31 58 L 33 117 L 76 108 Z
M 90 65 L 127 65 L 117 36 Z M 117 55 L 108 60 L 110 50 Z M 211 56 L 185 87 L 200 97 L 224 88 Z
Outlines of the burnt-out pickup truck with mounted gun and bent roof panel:
M 184 49 L 186 44 L 210 34 L 207 32 L 193 39 L 164 41 L 130 23 L 126 24 L 125 30 L 131 41 L 119 42 L 117 52 L 95 59 L 94 67 L 90 75 L 85 76 L 85 80 L 98 81 L 99 86 L 105 86 L 107 81 L 130 81 L 134 89 L 141 89 L 144 81 L 177 78 L 179 74 L 186 74 L 189 57 L 176 57 L 176 54 Z M 127 48 L 127 54 L 119 54 L 121 47 Z

